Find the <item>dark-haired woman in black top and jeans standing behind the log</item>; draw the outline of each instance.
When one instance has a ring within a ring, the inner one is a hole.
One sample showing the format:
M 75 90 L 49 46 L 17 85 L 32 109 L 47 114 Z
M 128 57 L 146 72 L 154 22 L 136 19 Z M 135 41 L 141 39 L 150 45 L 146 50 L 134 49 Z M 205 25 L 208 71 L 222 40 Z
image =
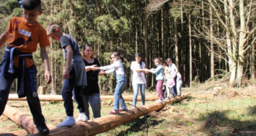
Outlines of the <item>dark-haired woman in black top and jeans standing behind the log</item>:
M 98 73 L 97 67 L 100 67 L 100 63 L 94 58 L 94 50 L 90 44 L 84 44 L 82 46 L 82 57 L 84 64 L 86 65 L 86 75 L 88 86 L 85 86 L 82 91 L 84 99 L 84 105 L 86 107 L 86 116 L 90 119 L 89 114 L 89 102 L 92 108 L 94 118 L 100 117 L 100 88 L 98 86 Z M 77 121 L 79 118 L 77 118 Z

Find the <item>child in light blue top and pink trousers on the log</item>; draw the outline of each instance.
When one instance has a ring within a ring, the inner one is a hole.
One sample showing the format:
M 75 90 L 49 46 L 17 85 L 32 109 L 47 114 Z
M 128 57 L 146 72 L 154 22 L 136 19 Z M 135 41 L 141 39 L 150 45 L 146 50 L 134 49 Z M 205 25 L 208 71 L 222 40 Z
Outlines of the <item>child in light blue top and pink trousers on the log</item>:
M 164 83 L 162 59 L 155 58 L 154 63 L 156 65 L 156 69 L 150 69 L 150 72 L 156 74 L 156 92 L 158 93 L 158 100 L 156 100 L 156 102 L 162 102 L 162 99 L 164 98 L 162 94 L 162 84 Z

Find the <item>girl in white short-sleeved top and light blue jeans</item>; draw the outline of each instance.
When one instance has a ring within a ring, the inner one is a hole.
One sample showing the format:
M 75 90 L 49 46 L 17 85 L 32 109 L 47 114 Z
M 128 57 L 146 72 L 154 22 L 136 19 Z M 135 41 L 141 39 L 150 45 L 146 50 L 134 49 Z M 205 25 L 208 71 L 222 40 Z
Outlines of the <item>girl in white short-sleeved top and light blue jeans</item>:
M 139 88 L 142 105 L 145 105 L 146 79 L 144 73 L 148 73 L 148 69 L 145 69 L 146 64 L 141 61 L 140 53 L 135 54 L 135 60 L 136 61 L 131 62 L 131 70 L 133 71 L 133 108 L 136 106 Z

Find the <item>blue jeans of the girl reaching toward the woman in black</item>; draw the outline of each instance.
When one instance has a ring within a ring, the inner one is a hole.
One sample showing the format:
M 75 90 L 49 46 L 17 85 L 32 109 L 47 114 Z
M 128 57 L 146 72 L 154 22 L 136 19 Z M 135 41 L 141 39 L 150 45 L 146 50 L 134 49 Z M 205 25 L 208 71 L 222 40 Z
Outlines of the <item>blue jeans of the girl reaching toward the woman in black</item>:
M 125 90 L 126 85 L 126 79 L 125 75 L 117 75 L 117 86 L 115 88 L 114 93 L 114 104 L 113 104 L 113 110 L 119 110 L 119 104 L 121 105 L 122 109 L 126 109 L 127 106 L 125 105 L 125 100 L 123 100 L 123 90 Z

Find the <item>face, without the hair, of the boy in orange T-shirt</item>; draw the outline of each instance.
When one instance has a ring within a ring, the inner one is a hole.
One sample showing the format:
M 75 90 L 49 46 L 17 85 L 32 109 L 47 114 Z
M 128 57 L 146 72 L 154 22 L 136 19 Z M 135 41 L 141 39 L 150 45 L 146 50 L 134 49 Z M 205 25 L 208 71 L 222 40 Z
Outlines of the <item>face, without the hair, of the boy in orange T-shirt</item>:
M 37 18 L 38 15 L 42 14 L 42 10 L 38 10 L 38 9 L 33 9 L 33 10 L 26 10 L 23 9 L 23 15 L 25 18 L 25 22 L 28 24 L 37 24 Z

